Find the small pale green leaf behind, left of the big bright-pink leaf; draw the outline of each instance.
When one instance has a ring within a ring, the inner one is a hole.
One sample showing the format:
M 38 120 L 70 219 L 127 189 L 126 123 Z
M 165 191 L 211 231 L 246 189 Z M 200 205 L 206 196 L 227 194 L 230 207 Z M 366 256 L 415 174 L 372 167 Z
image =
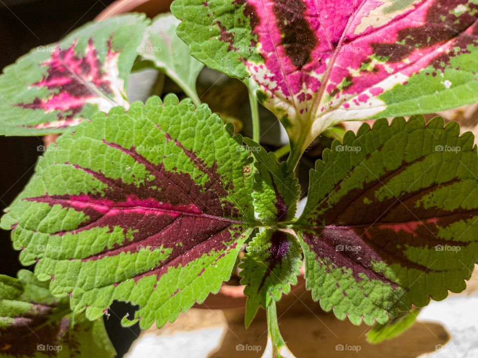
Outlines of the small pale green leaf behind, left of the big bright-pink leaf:
M 176 35 L 178 23 L 171 14 L 156 16 L 139 47 L 139 55 L 164 71 L 199 106 L 196 80 L 204 65 L 189 54 L 189 47 Z

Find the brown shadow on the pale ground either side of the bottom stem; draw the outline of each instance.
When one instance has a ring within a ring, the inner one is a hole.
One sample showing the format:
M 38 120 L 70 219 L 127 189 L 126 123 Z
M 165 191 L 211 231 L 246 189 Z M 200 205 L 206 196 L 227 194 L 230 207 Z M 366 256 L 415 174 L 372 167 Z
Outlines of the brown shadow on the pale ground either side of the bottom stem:
M 242 310 L 241 310 L 242 311 Z M 401 336 L 371 345 L 366 342 L 369 327 L 340 321 L 323 312 L 309 293 L 288 296 L 278 305 L 279 327 L 289 349 L 298 358 L 387 357 L 416 358 L 433 352 L 437 345 L 449 340 L 445 328 L 438 323 L 416 322 Z M 211 358 L 260 357 L 265 349 L 267 332 L 265 315 L 261 312 L 251 326 L 244 328 L 243 313 L 225 312 L 228 330 L 222 344 Z M 441 347 L 441 346 L 440 346 Z M 238 351 L 243 348 L 243 351 Z

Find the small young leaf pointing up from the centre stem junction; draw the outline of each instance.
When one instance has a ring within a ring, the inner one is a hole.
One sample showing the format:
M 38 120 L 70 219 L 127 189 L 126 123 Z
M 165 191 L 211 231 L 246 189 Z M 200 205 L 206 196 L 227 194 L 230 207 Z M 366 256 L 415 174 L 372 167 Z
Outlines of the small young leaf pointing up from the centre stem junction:
M 278 163 L 274 153 L 249 138 L 244 138 L 256 159 L 254 175 L 254 208 L 262 224 L 274 226 L 294 219 L 300 195 L 299 180 L 287 172 L 286 163 Z

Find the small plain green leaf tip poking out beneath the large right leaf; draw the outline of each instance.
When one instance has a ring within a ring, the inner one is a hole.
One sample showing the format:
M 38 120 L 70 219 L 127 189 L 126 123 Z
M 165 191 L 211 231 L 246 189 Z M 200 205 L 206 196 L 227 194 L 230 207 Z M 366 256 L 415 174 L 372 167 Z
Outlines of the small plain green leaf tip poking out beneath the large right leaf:
M 375 325 L 367 332 L 367 342 L 377 344 L 401 335 L 415 323 L 419 313 L 419 308 L 413 308 L 410 311 L 399 312 L 396 317 L 383 325 Z

